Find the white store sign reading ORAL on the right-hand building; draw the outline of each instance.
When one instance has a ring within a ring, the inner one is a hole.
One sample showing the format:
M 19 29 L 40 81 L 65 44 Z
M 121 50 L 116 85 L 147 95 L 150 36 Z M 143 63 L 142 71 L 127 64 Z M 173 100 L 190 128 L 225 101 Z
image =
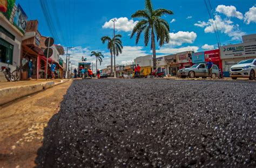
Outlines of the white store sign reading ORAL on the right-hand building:
M 220 47 L 221 59 L 256 56 L 256 42 Z

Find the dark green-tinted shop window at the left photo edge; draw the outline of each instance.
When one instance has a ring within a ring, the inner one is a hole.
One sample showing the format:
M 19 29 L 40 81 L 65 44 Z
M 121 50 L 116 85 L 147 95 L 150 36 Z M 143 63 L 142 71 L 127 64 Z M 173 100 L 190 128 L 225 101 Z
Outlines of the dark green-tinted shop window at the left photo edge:
M 12 65 L 12 57 L 14 54 L 14 46 L 0 38 L 0 62 L 7 64 L 9 61 Z

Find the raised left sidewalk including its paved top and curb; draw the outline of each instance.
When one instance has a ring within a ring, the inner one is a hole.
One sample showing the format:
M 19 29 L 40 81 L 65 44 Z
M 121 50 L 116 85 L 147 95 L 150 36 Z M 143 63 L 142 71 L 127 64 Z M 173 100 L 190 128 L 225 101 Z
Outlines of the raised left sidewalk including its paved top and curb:
M 18 82 L 0 82 L 0 106 L 21 97 L 60 85 L 70 79 L 39 79 Z

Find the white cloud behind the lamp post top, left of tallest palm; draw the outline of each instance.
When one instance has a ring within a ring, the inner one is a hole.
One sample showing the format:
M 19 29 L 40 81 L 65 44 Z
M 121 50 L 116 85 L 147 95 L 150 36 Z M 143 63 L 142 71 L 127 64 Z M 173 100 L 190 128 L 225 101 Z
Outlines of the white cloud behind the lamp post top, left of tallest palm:
M 125 32 L 132 31 L 133 27 L 138 23 L 138 21 L 134 22 L 134 20 L 129 20 L 127 17 L 113 19 L 117 19 L 117 22 L 115 23 L 115 29 Z M 113 29 L 112 19 L 110 19 L 109 22 L 105 22 L 105 24 L 102 27 L 103 29 Z

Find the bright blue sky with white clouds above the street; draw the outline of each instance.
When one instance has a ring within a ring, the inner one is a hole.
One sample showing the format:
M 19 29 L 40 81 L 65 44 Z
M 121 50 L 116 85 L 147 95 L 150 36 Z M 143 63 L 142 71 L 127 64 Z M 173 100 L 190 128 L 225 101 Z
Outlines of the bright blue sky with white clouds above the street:
M 110 64 L 106 45 L 100 41 L 102 36 L 112 36 L 112 18 L 117 18 L 116 33 L 122 34 L 124 52 L 116 59 L 117 64 L 130 64 L 138 56 L 151 54 L 149 47 L 144 47 L 143 36 L 138 45 L 130 39 L 132 27 L 139 19 L 131 19 L 132 13 L 144 9 L 144 0 L 43 0 L 51 13 L 54 29 L 64 47 L 73 46 L 72 62 L 77 64 L 82 56 L 90 57 L 91 51 L 102 51 L 105 55 L 102 66 Z M 208 1 L 208 0 L 206 0 Z M 221 45 L 240 43 L 241 35 L 256 33 L 255 0 L 210 0 L 214 20 L 219 29 Z M 21 4 L 29 19 L 39 21 L 39 31 L 44 36 L 51 36 L 39 0 L 16 0 Z M 207 13 L 204 0 L 152 0 L 154 9 L 172 10 L 174 15 L 164 16 L 170 24 L 170 44 L 159 48 L 157 55 L 194 50 L 203 51 L 217 48 L 217 39 Z M 55 8 L 55 6 L 57 8 Z M 55 9 L 55 10 L 53 10 Z M 59 24 L 58 24 L 59 23 Z

